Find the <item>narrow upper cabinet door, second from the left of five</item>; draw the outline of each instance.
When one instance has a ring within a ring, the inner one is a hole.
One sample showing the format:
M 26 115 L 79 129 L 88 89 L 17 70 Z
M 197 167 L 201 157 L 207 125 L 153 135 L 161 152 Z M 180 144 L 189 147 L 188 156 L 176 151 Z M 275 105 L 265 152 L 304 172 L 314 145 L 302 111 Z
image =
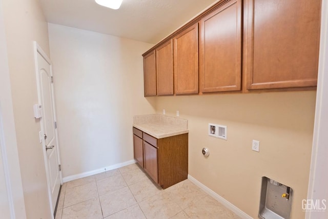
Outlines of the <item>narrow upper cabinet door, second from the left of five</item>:
M 157 95 L 173 94 L 172 39 L 156 49 Z

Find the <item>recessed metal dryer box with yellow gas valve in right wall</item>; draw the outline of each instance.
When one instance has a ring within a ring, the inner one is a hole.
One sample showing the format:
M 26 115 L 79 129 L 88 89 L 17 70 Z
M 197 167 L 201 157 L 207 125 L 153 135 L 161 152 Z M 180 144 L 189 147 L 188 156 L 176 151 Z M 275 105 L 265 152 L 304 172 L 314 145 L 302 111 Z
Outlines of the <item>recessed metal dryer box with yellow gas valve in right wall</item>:
M 261 219 L 291 218 L 293 189 L 271 178 L 262 177 L 258 217 Z

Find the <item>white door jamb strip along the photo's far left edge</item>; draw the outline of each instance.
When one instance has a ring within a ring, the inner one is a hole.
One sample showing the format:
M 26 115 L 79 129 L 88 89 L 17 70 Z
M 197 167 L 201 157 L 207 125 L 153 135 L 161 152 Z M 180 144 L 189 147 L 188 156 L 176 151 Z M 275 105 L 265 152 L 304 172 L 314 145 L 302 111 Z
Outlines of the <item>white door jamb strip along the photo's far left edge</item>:
M 26 218 L 9 78 L 6 35 L 0 0 L 0 212 Z

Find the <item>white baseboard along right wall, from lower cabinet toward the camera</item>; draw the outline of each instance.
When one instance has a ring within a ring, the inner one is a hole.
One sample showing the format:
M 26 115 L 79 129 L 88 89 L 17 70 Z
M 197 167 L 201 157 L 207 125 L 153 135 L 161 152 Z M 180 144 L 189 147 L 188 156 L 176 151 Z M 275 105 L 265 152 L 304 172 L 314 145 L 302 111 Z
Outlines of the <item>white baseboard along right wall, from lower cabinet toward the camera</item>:
M 188 174 L 188 180 L 190 180 L 192 183 L 194 183 L 196 186 L 198 186 L 204 192 L 206 192 L 207 194 L 209 194 L 210 196 L 212 196 L 213 198 L 215 198 L 215 200 L 217 200 L 218 202 L 220 202 L 224 207 L 230 209 L 231 211 L 233 211 L 235 214 L 237 214 L 241 218 L 243 218 L 243 219 L 246 219 L 246 218 L 247 219 L 253 219 L 253 217 L 251 217 L 247 213 L 243 212 L 242 210 L 240 210 L 239 208 L 237 208 L 236 206 L 234 206 L 233 204 L 231 204 L 230 202 L 228 202 L 227 200 L 225 200 L 223 197 L 221 197 L 220 195 L 218 195 L 217 193 L 215 193 L 213 190 L 211 190 L 207 186 L 205 186 L 202 183 L 200 183 L 199 181 L 197 181 L 194 177 L 192 177 L 189 174 Z

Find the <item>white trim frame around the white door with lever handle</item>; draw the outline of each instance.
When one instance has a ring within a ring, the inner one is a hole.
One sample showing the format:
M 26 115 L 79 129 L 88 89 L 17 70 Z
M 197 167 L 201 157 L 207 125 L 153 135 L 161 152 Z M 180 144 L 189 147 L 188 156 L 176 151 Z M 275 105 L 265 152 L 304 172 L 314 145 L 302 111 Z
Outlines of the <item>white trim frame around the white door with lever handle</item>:
M 36 74 L 37 98 L 38 98 L 38 104 L 42 104 L 41 103 L 41 95 L 40 95 L 41 92 L 40 92 L 40 84 L 39 84 L 40 82 L 39 82 L 39 75 L 38 75 L 37 54 L 40 54 L 46 60 L 46 62 L 50 65 L 50 74 L 51 74 L 51 76 L 53 76 L 53 74 L 52 74 L 52 63 L 50 61 L 50 58 L 47 56 L 47 54 L 44 52 L 44 50 L 37 44 L 36 41 L 33 42 L 33 46 L 34 46 L 34 63 L 35 63 L 35 74 Z M 53 85 L 52 85 L 52 93 L 53 93 L 54 119 L 55 119 L 55 121 L 57 121 Z M 41 129 L 41 132 L 44 133 L 44 127 L 43 127 L 42 123 L 40 123 L 40 129 Z M 58 141 L 57 128 L 55 129 L 55 138 L 56 138 L 56 141 L 57 141 L 56 149 L 57 149 L 57 152 L 58 152 L 58 164 L 60 165 L 61 164 L 60 163 L 60 150 L 59 150 L 59 141 Z M 54 210 L 55 209 L 53 209 L 53 207 L 52 207 L 51 188 L 50 188 L 50 180 L 49 180 L 49 174 L 50 173 L 48 172 L 47 152 L 46 152 L 46 145 L 45 145 L 44 140 L 42 141 L 42 147 L 43 147 L 44 162 L 45 162 L 45 167 L 46 167 L 49 205 L 50 205 L 50 210 L 52 212 L 51 213 L 52 218 L 54 218 Z M 63 175 L 61 174 L 61 171 L 59 171 L 59 178 L 60 178 L 60 185 L 63 185 Z

